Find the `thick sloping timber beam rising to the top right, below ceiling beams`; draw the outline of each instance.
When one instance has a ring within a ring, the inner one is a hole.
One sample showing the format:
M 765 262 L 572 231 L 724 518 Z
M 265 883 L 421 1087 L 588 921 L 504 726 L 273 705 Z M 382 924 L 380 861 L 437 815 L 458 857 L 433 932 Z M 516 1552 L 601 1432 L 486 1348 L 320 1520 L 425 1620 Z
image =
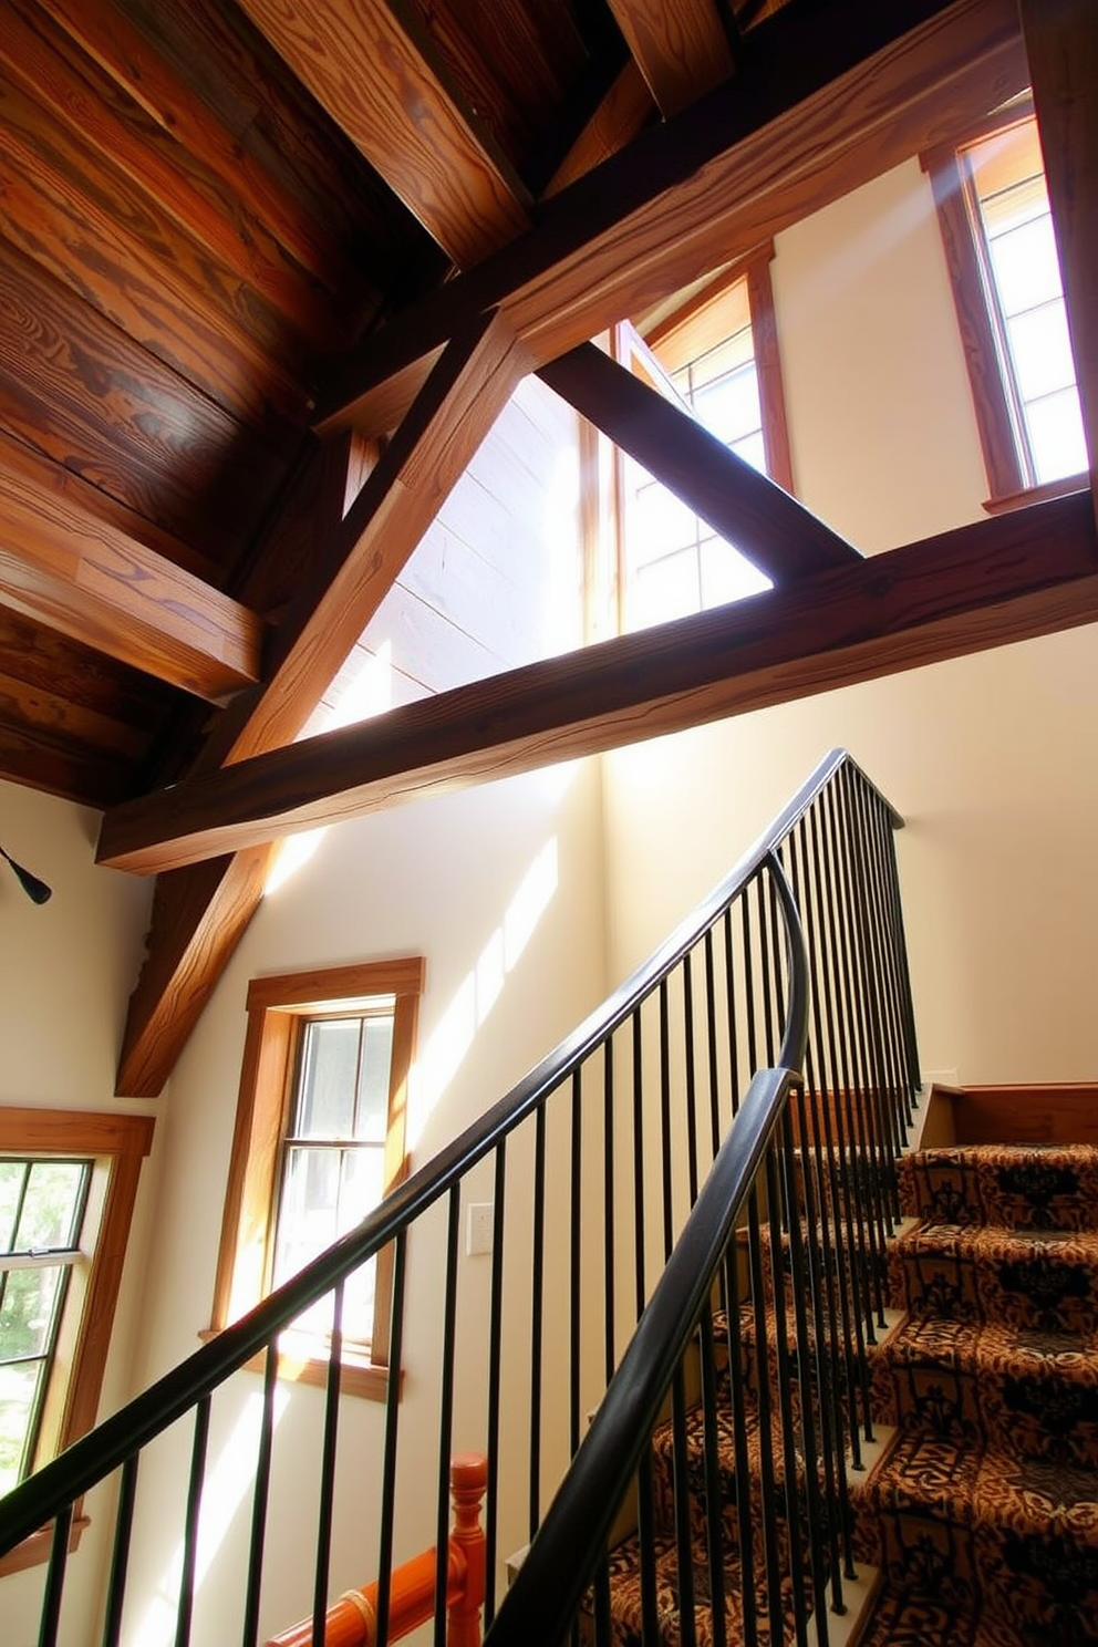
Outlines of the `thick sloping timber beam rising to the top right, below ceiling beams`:
M 318 427 L 390 428 L 435 351 L 500 306 L 538 366 L 682 290 L 1027 84 L 1014 0 L 782 12 L 751 61 L 547 201 L 535 229 L 354 351 Z

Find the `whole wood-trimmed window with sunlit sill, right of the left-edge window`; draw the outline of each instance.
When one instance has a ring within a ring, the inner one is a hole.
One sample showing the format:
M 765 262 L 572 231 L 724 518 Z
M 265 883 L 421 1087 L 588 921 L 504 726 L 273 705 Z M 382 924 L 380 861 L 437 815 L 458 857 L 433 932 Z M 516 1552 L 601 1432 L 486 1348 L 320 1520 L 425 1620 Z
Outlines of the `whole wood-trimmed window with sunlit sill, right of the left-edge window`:
M 254 978 L 214 1288 L 212 1331 L 237 1321 L 339 1235 L 405 1173 L 408 1072 L 423 960 L 365 962 Z M 342 1388 L 382 1397 L 392 1255 L 344 1290 Z M 326 1377 L 321 1304 L 280 1341 L 280 1372 Z

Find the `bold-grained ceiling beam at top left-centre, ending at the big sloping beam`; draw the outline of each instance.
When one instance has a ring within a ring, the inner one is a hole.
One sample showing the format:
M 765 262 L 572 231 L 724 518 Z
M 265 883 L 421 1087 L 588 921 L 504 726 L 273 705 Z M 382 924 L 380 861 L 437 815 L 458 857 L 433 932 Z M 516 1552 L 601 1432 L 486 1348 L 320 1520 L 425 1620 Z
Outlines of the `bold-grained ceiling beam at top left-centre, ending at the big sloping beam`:
M 252 21 L 461 268 L 528 224 L 525 191 L 398 0 L 242 0 Z

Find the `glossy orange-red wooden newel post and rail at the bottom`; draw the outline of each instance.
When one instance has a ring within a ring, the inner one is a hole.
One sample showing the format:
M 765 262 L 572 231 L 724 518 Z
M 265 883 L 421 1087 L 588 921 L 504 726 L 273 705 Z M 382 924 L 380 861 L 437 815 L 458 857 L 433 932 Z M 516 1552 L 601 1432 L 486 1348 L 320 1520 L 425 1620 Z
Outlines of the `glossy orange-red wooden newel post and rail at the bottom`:
M 481 1505 L 487 1491 L 487 1459 L 459 1453 L 449 1461 L 454 1530 L 446 1553 L 448 1647 L 481 1647 L 484 1606 L 484 1528 Z M 388 1593 L 387 1639 L 400 1640 L 435 1616 L 438 1551 L 423 1550 L 393 1568 Z M 349 1589 L 324 1617 L 324 1647 L 374 1647 L 379 1581 Z M 272 1635 L 267 1647 L 313 1647 L 313 1616 Z

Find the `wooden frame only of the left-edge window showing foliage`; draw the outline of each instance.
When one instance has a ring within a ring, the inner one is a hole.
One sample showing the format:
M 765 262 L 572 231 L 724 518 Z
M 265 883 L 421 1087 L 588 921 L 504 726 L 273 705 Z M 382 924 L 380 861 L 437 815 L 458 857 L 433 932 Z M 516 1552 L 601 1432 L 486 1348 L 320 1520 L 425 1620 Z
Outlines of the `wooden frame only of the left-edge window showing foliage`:
M 86 1435 L 99 1415 L 142 1161 L 151 1150 L 153 1127 L 151 1115 L 0 1107 L 0 1155 L 92 1163 L 79 1239 L 89 1262 L 69 1281 L 33 1469 Z M 87 1525 L 77 1502 L 69 1550 L 77 1548 Z M 49 1560 L 51 1543 L 53 1527 L 31 1533 L 0 1558 L 0 1578 Z

